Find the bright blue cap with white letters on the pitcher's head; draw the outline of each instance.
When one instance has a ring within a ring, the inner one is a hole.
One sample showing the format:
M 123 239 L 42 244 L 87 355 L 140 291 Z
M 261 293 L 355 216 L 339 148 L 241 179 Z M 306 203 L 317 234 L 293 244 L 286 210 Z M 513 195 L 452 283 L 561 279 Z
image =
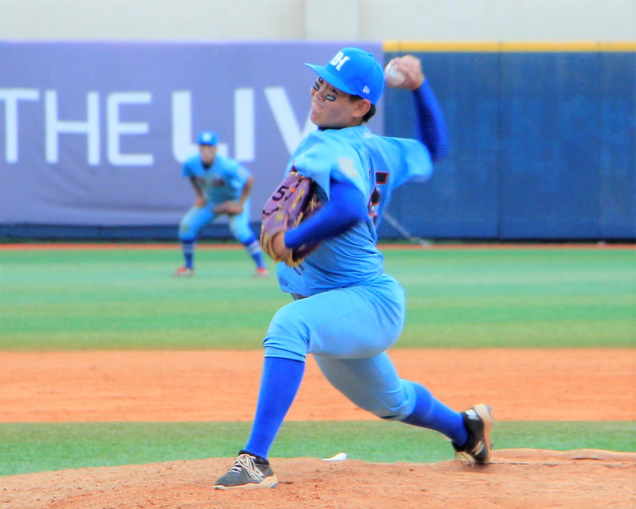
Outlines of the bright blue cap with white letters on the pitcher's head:
M 384 69 L 371 53 L 360 48 L 340 50 L 326 66 L 305 64 L 338 90 L 376 104 L 384 92 Z

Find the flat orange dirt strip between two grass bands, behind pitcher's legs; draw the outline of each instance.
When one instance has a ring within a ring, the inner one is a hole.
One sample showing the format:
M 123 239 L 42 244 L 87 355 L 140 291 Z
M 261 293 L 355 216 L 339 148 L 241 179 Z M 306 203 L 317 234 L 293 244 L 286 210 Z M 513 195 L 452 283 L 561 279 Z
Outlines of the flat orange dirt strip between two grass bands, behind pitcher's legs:
M 390 354 L 402 377 L 450 407 L 483 401 L 499 421 L 636 419 L 632 349 Z M 260 351 L 0 352 L 0 422 L 251 421 L 262 363 Z M 288 419 L 376 417 L 331 387 L 310 356 Z

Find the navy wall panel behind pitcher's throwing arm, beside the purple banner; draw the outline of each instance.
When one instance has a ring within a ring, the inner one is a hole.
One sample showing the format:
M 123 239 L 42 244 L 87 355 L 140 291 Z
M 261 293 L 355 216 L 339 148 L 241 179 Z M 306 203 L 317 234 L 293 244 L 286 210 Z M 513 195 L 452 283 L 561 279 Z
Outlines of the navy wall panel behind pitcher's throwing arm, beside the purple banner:
M 397 53 L 386 53 L 388 62 Z M 431 179 L 394 193 L 389 212 L 415 235 L 497 236 L 497 54 L 417 53 L 445 113 L 448 157 Z M 412 94 L 385 92 L 387 136 L 415 137 Z M 383 223 L 380 236 L 395 236 Z

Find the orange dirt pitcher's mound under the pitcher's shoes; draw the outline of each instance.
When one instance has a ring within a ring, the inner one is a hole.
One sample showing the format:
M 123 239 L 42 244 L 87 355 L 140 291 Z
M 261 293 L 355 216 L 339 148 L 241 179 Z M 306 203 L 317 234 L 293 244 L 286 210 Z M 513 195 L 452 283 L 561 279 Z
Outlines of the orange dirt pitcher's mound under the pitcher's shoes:
M 584 449 L 494 451 L 492 464 L 272 459 L 271 490 L 214 491 L 233 458 L 13 475 L 11 509 L 633 508 L 636 454 Z

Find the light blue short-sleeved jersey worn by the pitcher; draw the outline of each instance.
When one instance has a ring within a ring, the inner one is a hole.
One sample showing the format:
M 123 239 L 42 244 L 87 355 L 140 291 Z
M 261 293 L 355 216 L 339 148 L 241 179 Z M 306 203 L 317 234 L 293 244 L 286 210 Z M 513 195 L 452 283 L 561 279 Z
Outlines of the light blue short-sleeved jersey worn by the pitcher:
M 375 244 L 374 220 L 384 211 L 391 191 L 404 182 L 431 174 L 431 158 L 415 140 L 376 136 L 361 125 L 309 134 L 286 168 L 295 169 L 319 186 L 319 197 L 329 200 L 329 183 L 349 181 L 370 199 L 370 216 L 347 232 L 321 242 L 301 267 L 279 263 L 280 288 L 310 296 L 322 291 L 371 282 L 383 273 L 382 254 Z M 377 184 L 378 175 L 382 182 Z M 375 199 L 377 197 L 377 200 Z

